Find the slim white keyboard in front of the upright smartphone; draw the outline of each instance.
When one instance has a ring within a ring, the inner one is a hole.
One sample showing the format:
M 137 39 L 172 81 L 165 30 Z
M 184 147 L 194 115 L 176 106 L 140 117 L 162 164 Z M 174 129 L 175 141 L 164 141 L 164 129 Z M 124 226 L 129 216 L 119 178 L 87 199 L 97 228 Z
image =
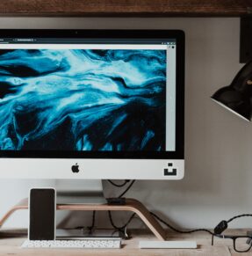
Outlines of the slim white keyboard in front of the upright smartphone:
M 22 248 L 119 249 L 121 238 L 84 238 L 69 240 L 25 240 Z

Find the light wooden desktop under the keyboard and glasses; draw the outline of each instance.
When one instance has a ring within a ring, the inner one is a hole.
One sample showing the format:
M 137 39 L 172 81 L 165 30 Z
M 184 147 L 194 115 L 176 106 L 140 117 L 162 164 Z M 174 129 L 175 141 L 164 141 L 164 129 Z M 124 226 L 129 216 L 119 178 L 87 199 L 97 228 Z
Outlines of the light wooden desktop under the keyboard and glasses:
M 252 256 L 252 250 L 247 253 L 234 252 L 231 239 L 214 238 L 214 245 L 211 245 L 211 236 L 205 232 L 194 234 L 177 234 L 168 233 L 170 240 L 196 240 L 197 249 L 139 249 L 139 240 L 157 240 L 155 236 L 148 230 L 132 230 L 132 238 L 123 240 L 122 249 L 105 249 L 105 250 L 89 250 L 89 249 L 21 249 L 20 245 L 25 238 L 0 238 L 0 255 L 174 255 L 174 256 L 194 256 L 194 255 L 242 255 Z M 246 234 L 246 230 L 230 230 L 228 234 Z

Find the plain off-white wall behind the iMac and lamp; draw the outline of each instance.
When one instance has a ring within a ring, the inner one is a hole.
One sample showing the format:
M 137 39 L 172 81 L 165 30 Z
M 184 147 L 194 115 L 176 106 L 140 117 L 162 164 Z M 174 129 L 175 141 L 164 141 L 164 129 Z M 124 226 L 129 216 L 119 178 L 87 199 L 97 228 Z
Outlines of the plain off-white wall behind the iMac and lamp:
M 239 64 L 239 18 L 0 18 L 1 28 L 145 28 L 183 29 L 186 34 L 185 178 L 137 181 L 128 196 L 143 201 L 170 223 L 212 228 L 222 219 L 252 212 L 252 125 L 217 106 L 210 96 L 231 83 Z M 1 170 L 5 171 L 5 170 Z M 27 196 L 38 180 L 1 180 L 0 215 Z M 49 183 L 52 181 L 48 181 Z M 107 187 L 111 189 L 111 187 Z M 114 192 L 114 194 L 116 194 Z M 115 214 L 114 214 L 115 215 Z M 89 223 L 77 213 L 68 226 Z M 126 214 L 118 214 L 123 223 Z M 249 219 L 232 227 L 250 227 Z M 25 226 L 18 213 L 6 226 Z M 107 215 L 99 214 L 100 225 Z M 134 221 L 135 225 L 140 222 Z

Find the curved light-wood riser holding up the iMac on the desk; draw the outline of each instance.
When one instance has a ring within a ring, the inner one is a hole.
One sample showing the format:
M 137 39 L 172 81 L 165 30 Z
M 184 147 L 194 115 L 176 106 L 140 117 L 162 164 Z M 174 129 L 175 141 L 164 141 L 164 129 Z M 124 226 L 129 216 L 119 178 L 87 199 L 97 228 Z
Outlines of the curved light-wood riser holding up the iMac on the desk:
M 160 223 L 158 223 L 154 216 L 152 216 L 148 209 L 135 199 L 126 199 L 124 205 L 109 205 L 109 204 L 57 204 L 57 210 L 123 210 L 132 211 L 136 213 L 140 219 L 148 226 L 150 230 L 155 234 L 156 238 L 160 240 L 166 239 L 166 232 L 163 230 Z M 28 199 L 25 198 L 13 206 L 4 216 L 0 219 L 0 227 L 4 225 L 4 222 L 17 210 L 28 209 Z

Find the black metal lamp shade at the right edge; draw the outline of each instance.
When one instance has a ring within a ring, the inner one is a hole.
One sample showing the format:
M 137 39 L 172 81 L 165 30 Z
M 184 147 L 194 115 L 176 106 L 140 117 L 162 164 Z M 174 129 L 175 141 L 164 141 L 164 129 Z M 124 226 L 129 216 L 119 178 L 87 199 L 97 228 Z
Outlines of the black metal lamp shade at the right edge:
M 220 88 L 211 98 L 241 118 L 251 121 L 252 61 L 242 67 L 230 85 Z

